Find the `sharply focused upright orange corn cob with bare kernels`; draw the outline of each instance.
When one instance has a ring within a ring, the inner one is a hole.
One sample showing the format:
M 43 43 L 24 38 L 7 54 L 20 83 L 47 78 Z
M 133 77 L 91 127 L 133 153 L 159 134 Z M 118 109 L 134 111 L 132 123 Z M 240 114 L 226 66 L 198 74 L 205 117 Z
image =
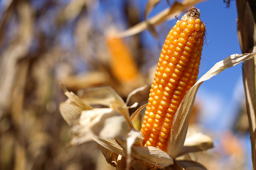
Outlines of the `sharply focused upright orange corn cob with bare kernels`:
M 197 80 L 206 31 L 199 16 L 190 7 L 166 37 L 141 128 L 145 146 L 166 152 L 176 110 Z

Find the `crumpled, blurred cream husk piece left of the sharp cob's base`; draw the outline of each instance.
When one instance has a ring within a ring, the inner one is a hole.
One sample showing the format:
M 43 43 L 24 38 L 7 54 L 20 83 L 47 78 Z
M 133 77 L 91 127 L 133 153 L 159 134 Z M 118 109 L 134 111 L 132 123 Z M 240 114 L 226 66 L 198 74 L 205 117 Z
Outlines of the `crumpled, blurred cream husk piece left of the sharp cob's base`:
M 79 123 L 72 127 L 70 144 L 82 144 L 94 138 L 125 140 L 130 126 L 125 117 L 112 108 L 95 108 L 83 111 Z

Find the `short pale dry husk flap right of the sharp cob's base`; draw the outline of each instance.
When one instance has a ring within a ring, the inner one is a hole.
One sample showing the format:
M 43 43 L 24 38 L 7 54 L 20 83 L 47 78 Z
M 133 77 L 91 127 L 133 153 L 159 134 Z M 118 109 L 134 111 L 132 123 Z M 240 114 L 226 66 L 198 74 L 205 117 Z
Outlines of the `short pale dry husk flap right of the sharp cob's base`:
M 179 156 L 190 152 L 205 151 L 211 148 L 213 148 L 213 140 L 211 137 L 202 133 L 196 133 L 191 136 L 187 135 Z

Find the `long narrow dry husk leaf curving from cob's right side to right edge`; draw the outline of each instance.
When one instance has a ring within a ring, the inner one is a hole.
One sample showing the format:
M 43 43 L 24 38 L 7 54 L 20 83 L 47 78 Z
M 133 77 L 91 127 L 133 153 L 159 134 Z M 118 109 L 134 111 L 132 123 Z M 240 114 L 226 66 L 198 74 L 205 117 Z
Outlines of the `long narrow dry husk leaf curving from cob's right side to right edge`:
M 191 110 L 194 104 L 194 99 L 199 86 L 211 77 L 219 74 L 221 71 L 235 66 L 245 60 L 251 59 L 256 53 L 249 54 L 233 54 L 226 59 L 216 63 L 207 73 L 205 73 L 194 86 L 186 93 L 184 99 L 178 107 L 173 120 L 170 140 L 168 143 L 167 153 L 170 157 L 175 158 L 181 152 L 186 138 L 186 132 L 189 124 Z

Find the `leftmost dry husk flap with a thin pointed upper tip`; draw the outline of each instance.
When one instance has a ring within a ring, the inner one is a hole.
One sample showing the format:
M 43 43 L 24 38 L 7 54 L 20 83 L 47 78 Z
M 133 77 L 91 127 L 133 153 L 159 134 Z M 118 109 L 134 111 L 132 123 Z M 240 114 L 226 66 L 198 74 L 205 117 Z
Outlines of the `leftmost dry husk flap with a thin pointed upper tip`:
M 62 89 L 64 91 L 64 94 L 68 97 L 68 99 L 60 104 L 60 112 L 64 120 L 70 126 L 72 126 L 77 122 L 83 110 L 90 110 L 93 108 L 88 104 L 84 103 L 73 92 L 68 92 L 63 85 Z

